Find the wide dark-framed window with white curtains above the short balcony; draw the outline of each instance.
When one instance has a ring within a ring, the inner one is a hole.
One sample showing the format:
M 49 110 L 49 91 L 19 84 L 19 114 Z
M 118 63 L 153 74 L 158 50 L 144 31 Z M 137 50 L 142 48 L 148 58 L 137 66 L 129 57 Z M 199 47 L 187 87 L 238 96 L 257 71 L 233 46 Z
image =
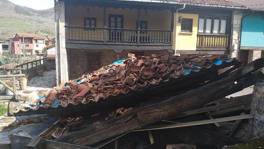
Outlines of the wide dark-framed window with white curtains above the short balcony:
M 199 16 L 198 33 L 226 34 L 227 17 Z

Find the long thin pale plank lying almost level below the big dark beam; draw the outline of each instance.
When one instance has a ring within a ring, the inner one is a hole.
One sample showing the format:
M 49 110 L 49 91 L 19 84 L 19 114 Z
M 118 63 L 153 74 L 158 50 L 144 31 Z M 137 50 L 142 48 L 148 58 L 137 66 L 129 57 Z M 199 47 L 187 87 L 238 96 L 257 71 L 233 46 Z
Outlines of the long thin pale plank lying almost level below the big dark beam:
M 254 116 L 252 114 L 246 114 L 246 115 L 223 117 L 223 118 L 211 119 L 211 120 L 200 120 L 200 121 L 193 121 L 193 122 L 186 122 L 186 123 L 167 124 L 167 125 L 160 125 L 160 126 L 149 126 L 149 127 L 143 128 L 143 129 L 133 130 L 133 132 L 177 128 L 177 127 L 186 127 L 186 126 L 195 126 L 195 125 L 204 125 L 204 124 L 219 123 L 219 122 L 241 120 L 241 119 L 250 119 L 250 118 L 254 118 Z

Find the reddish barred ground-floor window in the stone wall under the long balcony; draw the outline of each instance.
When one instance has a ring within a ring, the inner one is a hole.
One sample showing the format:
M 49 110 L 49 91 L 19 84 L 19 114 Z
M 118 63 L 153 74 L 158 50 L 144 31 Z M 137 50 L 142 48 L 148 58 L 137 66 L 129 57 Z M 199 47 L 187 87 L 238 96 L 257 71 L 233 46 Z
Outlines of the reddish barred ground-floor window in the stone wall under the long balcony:
M 101 67 L 101 54 L 88 53 L 87 55 L 87 71 L 93 72 Z

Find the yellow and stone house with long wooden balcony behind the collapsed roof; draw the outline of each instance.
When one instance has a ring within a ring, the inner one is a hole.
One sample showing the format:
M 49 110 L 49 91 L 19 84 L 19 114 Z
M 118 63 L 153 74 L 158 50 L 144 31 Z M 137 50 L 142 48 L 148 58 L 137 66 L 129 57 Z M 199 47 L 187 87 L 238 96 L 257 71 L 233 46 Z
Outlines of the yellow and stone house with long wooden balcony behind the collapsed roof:
M 57 84 L 128 53 L 238 57 L 238 15 L 250 10 L 235 0 L 58 0 L 54 9 Z

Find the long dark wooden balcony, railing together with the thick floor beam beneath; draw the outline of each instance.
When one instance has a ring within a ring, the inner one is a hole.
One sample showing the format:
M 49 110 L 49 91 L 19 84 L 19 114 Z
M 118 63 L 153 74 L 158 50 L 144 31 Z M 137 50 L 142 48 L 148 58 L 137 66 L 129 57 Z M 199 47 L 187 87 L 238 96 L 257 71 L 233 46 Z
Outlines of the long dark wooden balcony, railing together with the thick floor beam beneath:
M 66 48 L 171 49 L 173 30 L 65 26 Z

